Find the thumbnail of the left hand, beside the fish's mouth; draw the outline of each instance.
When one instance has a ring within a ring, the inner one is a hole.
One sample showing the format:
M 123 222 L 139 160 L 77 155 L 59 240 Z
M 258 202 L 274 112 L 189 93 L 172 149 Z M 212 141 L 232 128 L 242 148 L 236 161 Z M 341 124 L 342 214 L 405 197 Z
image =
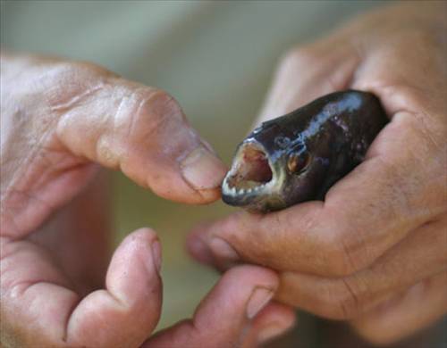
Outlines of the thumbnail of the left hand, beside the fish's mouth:
M 191 186 L 203 190 L 220 186 L 226 167 L 213 153 L 200 145 L 181 162 L 181 173 Z

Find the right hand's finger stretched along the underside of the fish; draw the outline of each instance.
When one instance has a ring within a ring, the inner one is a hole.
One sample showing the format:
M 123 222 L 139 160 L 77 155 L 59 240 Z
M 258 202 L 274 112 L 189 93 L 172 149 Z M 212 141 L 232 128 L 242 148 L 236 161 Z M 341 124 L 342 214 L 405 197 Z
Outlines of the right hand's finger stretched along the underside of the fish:
M 409 139 L 414 139 L 409 144 Z M 415 118 L 398 112 L 367 160 L 328 192 L 266 215 L 238 212 L 195 232 L 215 261 L 250 261 L 274 269 L 342 276 L 363 269 L 410 228 L 443 209 L 439 162 Z M 194 250 L 192 251 L 194 253 Z M 203 254 L 203 253 L 202 253 Z

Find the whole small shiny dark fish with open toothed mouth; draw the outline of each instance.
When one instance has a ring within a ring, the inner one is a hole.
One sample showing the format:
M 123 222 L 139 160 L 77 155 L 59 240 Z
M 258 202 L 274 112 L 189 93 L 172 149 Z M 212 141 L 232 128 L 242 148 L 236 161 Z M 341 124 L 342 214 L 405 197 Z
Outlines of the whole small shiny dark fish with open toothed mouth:
M 387 122 L 375 95 L 359 91 L 324 95 L 266 121 L 240 144 L 223 179 L 223 202 L 266 212 L 322 200 L 363 160 Z

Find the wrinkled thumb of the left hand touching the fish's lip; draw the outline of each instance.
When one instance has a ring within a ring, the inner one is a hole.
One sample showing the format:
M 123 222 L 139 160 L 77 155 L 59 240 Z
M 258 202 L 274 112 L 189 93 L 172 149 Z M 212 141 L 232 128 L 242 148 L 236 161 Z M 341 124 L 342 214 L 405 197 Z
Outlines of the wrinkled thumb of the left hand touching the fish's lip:
M 218 197 L 225 167 L 171 95 L 111 75 L 95 80 L 82 69 L 74 78 L 89 86 L 68 101 L 72 107 L 56 128 L 71 153 L 122 170 L 167 199 L 208 203 Z

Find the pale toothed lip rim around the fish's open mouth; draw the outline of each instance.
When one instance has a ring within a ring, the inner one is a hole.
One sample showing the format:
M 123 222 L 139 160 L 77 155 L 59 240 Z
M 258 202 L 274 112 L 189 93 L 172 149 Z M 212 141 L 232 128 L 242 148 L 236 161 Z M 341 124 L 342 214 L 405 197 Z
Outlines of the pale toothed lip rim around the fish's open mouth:
M 256 186 L 254 188 L 238 189 L 235 186 L 231 187 L 228 181 L 230 178 L 232 178 L 232 176 L 234 176 L 237 173 L 238 170 L 237 164 L 240 153 L 248 145 L 255 147 L 257 150 L 266 154 L 266 160 L 268 162 L 270 170 L 272 171 L 272 178 L 268 182 L 266 182 L 266 184 L 260 184 L 259 186 Z M 279 194 L 281 188 L 280 185 L 281 177 L 282 177 L 281 173 L 278 173 L 278 170 L 275 168 L 274 163 L 271 160 L 271 156 L 266 150 L 265 146 L 259 143 L 254 138 L 245 140 L 244 142 L 242 142 L 242 144 L 240 144 L 240 147 L 234 156 L 231 169 L 227 172 L 225 178 L 223 178 L 222 183 L 223 201 L 225 203 L 229 203 L 232 205 L 248 205 L 249 203 L 253 203 L 259 199 L 262 199 L 262 197 L 265 195 L 267 196 L 272 194 Z

